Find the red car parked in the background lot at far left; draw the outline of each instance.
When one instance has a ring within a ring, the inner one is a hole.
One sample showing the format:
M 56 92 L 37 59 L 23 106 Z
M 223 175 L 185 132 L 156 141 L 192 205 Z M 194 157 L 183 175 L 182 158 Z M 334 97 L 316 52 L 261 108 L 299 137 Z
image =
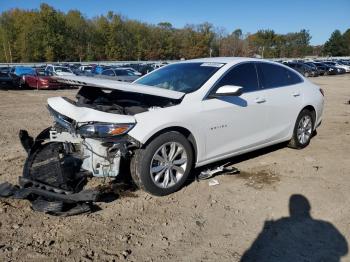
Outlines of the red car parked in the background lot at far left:
M 65 87 L 43 70 L 34 70 L 33 74 L 23 75 L 21 85 L 33 89 L 59 89 Z

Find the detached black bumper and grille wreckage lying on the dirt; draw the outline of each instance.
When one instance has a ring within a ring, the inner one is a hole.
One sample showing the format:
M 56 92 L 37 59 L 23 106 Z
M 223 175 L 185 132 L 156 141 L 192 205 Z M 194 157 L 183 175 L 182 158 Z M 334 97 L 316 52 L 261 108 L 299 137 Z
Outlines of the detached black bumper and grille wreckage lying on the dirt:
M 35 211 L 57 216 L 90 212 L 93 202 L 101 200 L 97 190 L 83 190 L 87 174 L 81 172 L 81 160 L 63 154 L 63 145 L 47 143 L 45 129 L 35 141 L 24 130 L 20 139 L 28 153 L 19 186 L 0 184 L 0 197 L 28 199 Z M 46 143 L 45 143 L 46 142 Z

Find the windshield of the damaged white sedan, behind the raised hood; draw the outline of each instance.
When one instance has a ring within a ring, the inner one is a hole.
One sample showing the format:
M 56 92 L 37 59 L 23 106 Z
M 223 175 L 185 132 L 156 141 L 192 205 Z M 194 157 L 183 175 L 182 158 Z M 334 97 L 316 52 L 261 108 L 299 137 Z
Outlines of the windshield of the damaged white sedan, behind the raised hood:
M 199 62 L 172 64 L 144 76 L 135 83 L 191 93 L 198 90 L 223 65 Z

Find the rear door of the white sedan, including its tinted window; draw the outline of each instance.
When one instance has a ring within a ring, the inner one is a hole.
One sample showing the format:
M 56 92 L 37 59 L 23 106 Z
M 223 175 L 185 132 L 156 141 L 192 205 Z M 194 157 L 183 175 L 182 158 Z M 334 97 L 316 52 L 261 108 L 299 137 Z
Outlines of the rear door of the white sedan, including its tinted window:
M 257 63 L 259 82 L 268 110 L 266 142 L 288 138 L 302 106 L 303 79 L 292 70 L 274 63 Z

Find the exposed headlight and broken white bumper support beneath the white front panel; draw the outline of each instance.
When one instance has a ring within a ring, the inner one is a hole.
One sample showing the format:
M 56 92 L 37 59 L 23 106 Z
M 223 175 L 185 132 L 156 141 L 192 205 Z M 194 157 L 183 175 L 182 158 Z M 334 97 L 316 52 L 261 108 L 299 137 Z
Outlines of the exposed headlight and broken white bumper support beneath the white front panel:
M 127 131 L 132 124 L 106 124 L 98 122 L 77 123 L 49 106 L 55 124 L 50 129 L 48 141 L 63 143 L 66 154 L 81 159 L 81 169 L 96 177 L 116 177 L 120 172 L 121 158 L 128 158 L 139 143 L 126 134 L 109 136 L 120 129 Z M 112 130 L 109 131 L 108 130 Z

